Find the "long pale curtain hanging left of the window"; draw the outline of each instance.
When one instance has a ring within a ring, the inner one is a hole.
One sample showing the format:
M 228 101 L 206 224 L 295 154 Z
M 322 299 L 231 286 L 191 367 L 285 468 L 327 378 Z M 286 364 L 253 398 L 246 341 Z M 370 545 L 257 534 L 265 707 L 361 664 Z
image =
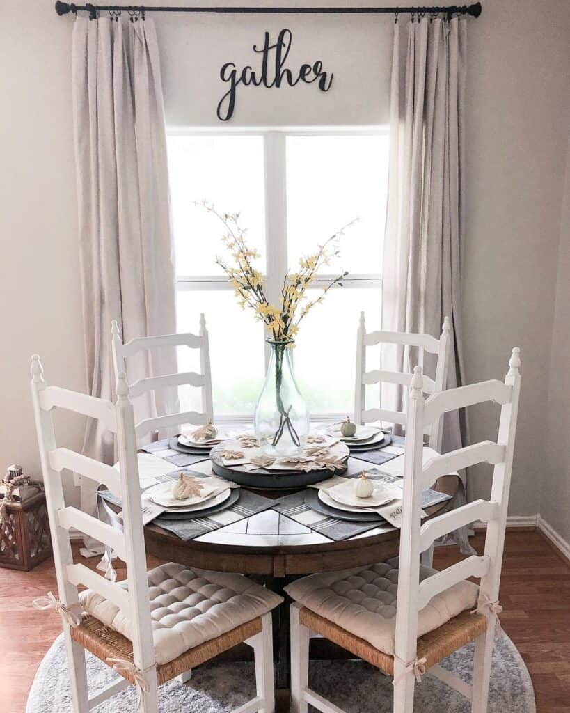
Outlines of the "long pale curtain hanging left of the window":
M 93 396 L 114 401 L 111 320 L 118 320 L 125 341 L 176 331 L 165 120 L 152 20 L 78 17 L 72 65 L 87 380 Z M 176 369 L 174 349 L 128 362 L 129 381 Z M 174 391 L 135 401 L 137 420 L 176 410 Z M 112 463 L 111 434 L 89 421 L 83 452 Z M 81 483 L 81 507 L 88 513 L 96 508 L 88 482 Z

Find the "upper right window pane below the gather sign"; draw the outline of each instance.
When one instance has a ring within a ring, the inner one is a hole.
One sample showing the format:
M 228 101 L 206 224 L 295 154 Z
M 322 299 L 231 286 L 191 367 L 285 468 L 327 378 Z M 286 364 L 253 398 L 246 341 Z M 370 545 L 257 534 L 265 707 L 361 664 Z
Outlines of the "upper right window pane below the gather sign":
M 326 272 L 382 272 L 388 190 L 388 136 L 288 136 L 289 267 L 356 217 Z

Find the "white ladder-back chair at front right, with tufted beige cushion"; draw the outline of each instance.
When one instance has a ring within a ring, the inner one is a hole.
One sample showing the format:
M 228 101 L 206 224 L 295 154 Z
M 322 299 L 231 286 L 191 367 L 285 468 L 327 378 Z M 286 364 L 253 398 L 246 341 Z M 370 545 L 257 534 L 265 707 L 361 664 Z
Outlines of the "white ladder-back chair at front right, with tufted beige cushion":
M 410 380 L 403 474 L 402 525 L 398 560 L 340 573 L 309 575 L 287 585 L 291 605 L 291 702 L 293 713 L 312 704 L 342 713 L 309 688 L 309 639 L 321 635 L 393 676 L 394 713 L 413 713 L 416 681 L 440 678 L 486 713 L 499 606 L 504 533 L 512 471 L 521 377 L 519 349 L 512 350 L 503 381 L 484 381 L 424 397 L 423 369 Z M 424 463 L 425 426 L 448 411 L 494 401 L 501 405 L 496 441 L 482 441 L 437 455 Z M 422 524 L 422 493 L 440 476 L 475 463 L 494 466 L 488 501 L 480 499 Z M 420 565 L 420 553 L 435 539 L 463 525 L 487 523 L 484 553 L 436 572 Z M 391 572 L 390 572 L 391 570 Z M 480 585 L 467 581 L 480 578 Z M 393 601 L 391 583 L 397 581 Z M 385 584 L 383 584 L 385 583 Z M 330 595 L 329 595 L 330 594 Z M 366 595 L 366 596 L 365 596 Z M 437 599 L 434 599 L 437 597 Z M 369 605 L 366 602 L 371 602 Z M 473 685 L 439 662 L 475 641 Z M 443 706 L 445 707 L 445 706 Z

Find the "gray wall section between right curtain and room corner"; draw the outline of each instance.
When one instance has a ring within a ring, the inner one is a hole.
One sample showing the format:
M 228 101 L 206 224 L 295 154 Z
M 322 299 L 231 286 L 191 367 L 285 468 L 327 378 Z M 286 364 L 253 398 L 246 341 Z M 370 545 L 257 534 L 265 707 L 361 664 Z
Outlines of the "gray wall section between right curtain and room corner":
M 502 379 L 521 347 L 509 514 L 539 511 L 561 198 L 570 123 L 566 1 L 487 1 L 470 26 L 463 314 L 467 381 Z M 476 440 L 498 409 L 472 409 Z M 490 468 L 471 479 L 489 493 Z

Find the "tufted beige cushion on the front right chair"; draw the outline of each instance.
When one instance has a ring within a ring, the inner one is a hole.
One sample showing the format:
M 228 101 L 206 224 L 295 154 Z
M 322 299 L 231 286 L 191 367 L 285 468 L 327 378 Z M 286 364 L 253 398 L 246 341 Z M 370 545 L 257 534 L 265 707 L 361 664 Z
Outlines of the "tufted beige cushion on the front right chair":
M 420 567 L 420 580 L 435 570 Z M 365 568 L 310 575 L 287 585 L 289 596 L 316 614 L 393 655 L 398 558 Z M 419 612 L 418 637 L 474 608 L 479 588 L 460 582 L 433 597 Z

